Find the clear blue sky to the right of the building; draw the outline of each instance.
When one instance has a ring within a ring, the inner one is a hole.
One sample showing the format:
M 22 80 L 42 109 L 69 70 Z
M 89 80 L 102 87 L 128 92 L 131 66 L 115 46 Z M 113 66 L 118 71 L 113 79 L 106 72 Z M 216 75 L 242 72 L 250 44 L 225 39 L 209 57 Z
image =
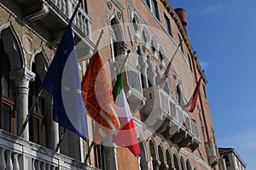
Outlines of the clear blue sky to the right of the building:
M 169 1 L 187 12 L 218 146 L 234 147 L 247 170 L 256 169 L 256 1 Z

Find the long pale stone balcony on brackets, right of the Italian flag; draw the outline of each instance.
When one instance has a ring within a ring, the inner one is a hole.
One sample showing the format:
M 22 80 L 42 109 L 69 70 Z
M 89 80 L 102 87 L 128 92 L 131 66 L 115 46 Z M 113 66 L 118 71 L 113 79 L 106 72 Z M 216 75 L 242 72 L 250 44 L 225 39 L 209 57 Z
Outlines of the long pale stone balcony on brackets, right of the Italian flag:
M 142 111 L 147 116 L 144 123 L 148 127 L 179 147 L 195 150 L 201 144 L 196 122 L 165 90 L 159 87 L 143 88 L 143 94 L 147 101 Z

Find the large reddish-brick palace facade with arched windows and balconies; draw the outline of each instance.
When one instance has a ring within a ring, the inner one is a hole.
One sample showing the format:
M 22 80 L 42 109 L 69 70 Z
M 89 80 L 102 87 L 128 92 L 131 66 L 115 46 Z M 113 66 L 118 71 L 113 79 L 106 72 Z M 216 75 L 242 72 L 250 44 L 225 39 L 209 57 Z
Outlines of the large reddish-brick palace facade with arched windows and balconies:
M 76 3 L 0 2 L 0 169 L 222 169 L 207 99 L 207 77 L 189 41 L 186 13 L 183 8 L 173 9 L 172 1 L 83 0 L 73 21 L 81 77 L 97 40 L 112 83 L 131 51 L 123 75 L 139 156 L 103 141 L 84 163 L 93 139 L 90 117 L 89 140 L 67 132 L 55 152 L 63 127 L 52 120 L 52 97 L 46 91 L 21 134 Z M 160 81 L 171 59 L 170 71 Z M 195 111 L 183 111 L 200 77 Z

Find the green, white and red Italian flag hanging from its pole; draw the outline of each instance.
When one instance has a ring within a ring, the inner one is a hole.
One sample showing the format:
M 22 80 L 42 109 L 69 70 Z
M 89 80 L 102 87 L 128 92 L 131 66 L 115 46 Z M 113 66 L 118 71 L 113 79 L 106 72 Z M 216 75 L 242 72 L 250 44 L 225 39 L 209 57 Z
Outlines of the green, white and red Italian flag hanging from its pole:
M 140 154 L 140 146 L 137 141 L 137 133 L 132 120 L 130 107 L 125 96 L 122 73 L 118 75 L 113 87 L 113 99 L 120 122 L 120 129 L 117 133 L 113 134 L 113 142 L 119 146 L 128 148 L 134 156 L 138 156 Z

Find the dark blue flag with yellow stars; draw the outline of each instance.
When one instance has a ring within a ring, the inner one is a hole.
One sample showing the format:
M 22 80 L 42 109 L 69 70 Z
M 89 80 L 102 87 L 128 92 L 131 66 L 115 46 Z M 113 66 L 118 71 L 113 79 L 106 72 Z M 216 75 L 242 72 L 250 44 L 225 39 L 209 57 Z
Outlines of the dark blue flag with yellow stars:
M 79 66 L 73 40 L 72 21 L 61 38 L 42 87 L 53 95 L 53 119 L 61 127 L 87 139 L 87 119 L 81 92 Z

